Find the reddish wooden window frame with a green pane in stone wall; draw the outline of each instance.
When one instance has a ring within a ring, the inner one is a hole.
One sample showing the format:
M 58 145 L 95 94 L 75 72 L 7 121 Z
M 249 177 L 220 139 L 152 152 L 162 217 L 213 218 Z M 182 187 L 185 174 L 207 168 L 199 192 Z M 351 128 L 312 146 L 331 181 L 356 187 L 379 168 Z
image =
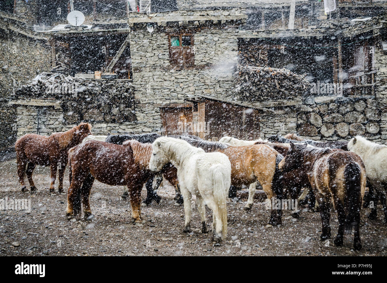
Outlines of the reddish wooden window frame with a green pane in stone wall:
M 190 36 L 191 37 L 191 44 L 188 46 L 183 46 L 183 36 Z M 179 38 L 179 46 L 171 46 L 171 38 L 178 37 Z M 189 69 L 195 66 L 195 52 L 194 52 L 194 34 L 191 32 L 180 32 L 180 33 L 171 33 L 168 35 L 168 47 L 169 47 L 169 57 L 170 57 L 170 64 L 173 68 L 182 70 L 182 69 Z M 173 53 L 181 52 L 181 54 L 178 54 L 178 56 L 182 57 L 182 63 L 178 64 L 174 62 L 173 60 Z M 187 58 L 187 54 L 189 58 Z

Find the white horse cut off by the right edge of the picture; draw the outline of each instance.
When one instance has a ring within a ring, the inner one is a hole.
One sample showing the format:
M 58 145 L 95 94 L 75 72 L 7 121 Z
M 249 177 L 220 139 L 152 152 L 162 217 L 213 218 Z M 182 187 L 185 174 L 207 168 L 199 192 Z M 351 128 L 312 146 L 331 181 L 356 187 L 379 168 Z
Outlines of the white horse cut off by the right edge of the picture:
M 381 194 L 381 201 L 384 208 L 384 222 L 387 223 L 387 146 L 366 140 L 362 136 L 352 138 L 348 143 L 348 149 L 361 157 L 365 165 L 365 171 L 368 181 L 373 189 Z M 370 188 L 370 194 L 373 190 Z M 376 200 L 374 208 L 369 215 L 370 218 L 376 218 Z

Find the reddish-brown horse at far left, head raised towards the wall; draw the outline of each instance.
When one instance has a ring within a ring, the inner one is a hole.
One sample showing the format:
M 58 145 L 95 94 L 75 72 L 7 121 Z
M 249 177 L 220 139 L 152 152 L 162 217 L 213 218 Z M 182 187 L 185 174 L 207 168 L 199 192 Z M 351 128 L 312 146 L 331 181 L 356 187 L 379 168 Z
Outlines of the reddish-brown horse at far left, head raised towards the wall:
M 81 143 L 88 135 L 91 135 L 91 124 L 80 123 L 68 131 L 53 133 L 50 136 L 27 134 L 19 138 L 15 143 L 15 151 L 17 175 L 19 176 L 22 191 L 28 191 L 24 183 L 25 176 L 29 181 L 31 193 L 36 191 L 32 173 L 38 164 L 50 165 L 50 193 L 53 193 L 55 179 L 57 178 L 57 166 L 59 165 L 58 191 L 61 193 L 63 190 L 63 173 L 67 165 L 67 152 L 70 148 Z

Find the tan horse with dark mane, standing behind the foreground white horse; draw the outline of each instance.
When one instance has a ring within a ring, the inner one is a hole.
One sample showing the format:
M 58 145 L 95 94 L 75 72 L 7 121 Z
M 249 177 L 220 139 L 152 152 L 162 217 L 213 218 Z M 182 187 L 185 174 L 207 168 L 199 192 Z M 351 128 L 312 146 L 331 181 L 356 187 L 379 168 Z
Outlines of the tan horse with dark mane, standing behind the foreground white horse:
M 249 210 L 253 205 L 257 181 L 261 184 L 270 201 L 273 197 L 282 198 L 282 187 L 279 186 L 277 166 L 283 156 L 268 145 L 230 147 L 225 143 L 206 142 L 190 138 L 182 139 L 194 147 L 204 149 L 205 152 L 221 152 L 228 157 L 231 162 L 231 185 L 249 187 L 248 200 L 243 208 L 244 210 Z M 281 224 L 281 210 L 272 210 L 269 224 Z

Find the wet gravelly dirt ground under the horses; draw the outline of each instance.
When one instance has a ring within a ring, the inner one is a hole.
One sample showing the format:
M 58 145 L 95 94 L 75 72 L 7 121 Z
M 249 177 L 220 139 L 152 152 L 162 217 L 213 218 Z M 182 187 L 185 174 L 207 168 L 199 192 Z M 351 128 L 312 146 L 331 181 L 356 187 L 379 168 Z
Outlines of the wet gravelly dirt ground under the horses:
M 255 200 L 251 211 L 243 211 L 246 199 L 228 202 L 228 236 L 220 246 L 211 242 L 211 234 L 201 234 L 200 217 L 193 209 L 193 232 L 182 232 L 183 206 L 173 206 L 171 186 L 159 189 L 162 203 L 141 207 L 144 225 L 130 221 L 130 202 L 120 199 L 122 187 L 94 182 L 90 205 L 96 216 L 89 222 L 70 222 L 65 218 L 67 195 L 48 193 L 49 170 L 37 167 L 34 181 L 38 193 L 22 193 L 19 189 L 15 160 L 0 163 L 0 200 L 31 199 L 31 212 L 0 210 L 1 256 L 372 256 L 387 255 L 387 225 L 382 223 L 383 211 L 378 207 L 378 219 L 368 220 L 368 209 L 362 210 L 361 240 L 363 249 L 353 251 L 353 235 L 344 237 L 344 246 L 319 240 L 319 213 L 304 211 L 295 220 L 284 211 L 283 224 L 266 228 L 270 211 Z M 58 181 L 58 180 L 57 180 Z M 57 185 L 57 183 L 56 183 Z M 64 187 L 68 188 L 65 175 Z M 145 198 L 146 190 L 142 191 Z M 207 226 L 211 230 L 212 213 L 206 208 Z M 332 236 L 337 233 L 336 214 L 331 217 Z

